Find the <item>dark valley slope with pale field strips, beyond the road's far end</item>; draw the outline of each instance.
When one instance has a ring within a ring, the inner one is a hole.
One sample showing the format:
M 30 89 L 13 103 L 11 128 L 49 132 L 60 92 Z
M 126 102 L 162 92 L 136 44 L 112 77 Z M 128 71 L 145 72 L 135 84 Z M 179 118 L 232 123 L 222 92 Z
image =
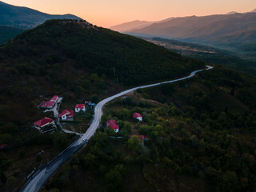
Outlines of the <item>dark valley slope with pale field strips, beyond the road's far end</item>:
M 166 38 L 142 38 L 146 41 L 153 42 L 158 46 L 164 46 L 166 49 L 173 50 L 178 54 L 182 54 L 190 58 L 198 58 L 204 62 L 214 63 L 216 65 L 230 66 L 238 70 L 246 70 L 247 72 L 256 74 L 256 66 L 254 62 L 254 44 L 240 44 L 240 50 L 247 52 L 247 57 L 239 57 L 240 54 L 227 50 L 219 50 L 212 46 L 202 46 L 189 42 L 179 42 Z M 231 44 L 231 43 L 230 43 Z M 250 54 L 250 55 L 249 55 Z M 250 59 L 249 59 L 249 56 Z

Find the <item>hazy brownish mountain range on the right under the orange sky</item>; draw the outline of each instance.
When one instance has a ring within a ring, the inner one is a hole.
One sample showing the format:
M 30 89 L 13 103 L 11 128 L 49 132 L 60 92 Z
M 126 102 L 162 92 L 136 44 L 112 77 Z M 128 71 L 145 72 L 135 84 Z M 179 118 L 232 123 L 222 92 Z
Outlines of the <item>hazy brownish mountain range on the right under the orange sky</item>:
M 244 14 L 232 11 L 202 17 L 170 18 L 153 24 L 147 22 L 147 26 L 133 26 L 133 23 L 129 25 L 130 29 L 134 27 L 133 30 L 126 28 L 125 23 L 111 29 L 147 38 L 169 38 L 215 46 L 256 58 L 256 9 Z

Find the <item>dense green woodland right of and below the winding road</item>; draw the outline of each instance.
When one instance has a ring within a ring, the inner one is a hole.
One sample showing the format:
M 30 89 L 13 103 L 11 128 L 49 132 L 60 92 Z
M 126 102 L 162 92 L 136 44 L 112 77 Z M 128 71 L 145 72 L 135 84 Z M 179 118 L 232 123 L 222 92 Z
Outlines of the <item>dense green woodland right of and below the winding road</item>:
M 42 191 L 254 191 L 255 83 L 217 66 L 111 102 L 102 128 Z M 144 146 L 134 134 L 148 135 Z

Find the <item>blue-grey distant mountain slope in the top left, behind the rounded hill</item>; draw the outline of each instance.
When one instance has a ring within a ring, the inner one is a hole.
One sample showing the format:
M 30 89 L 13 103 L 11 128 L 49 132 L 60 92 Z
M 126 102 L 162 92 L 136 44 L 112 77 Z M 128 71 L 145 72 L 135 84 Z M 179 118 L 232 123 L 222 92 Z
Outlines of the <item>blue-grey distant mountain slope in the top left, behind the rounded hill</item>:
M 12 6 L 5 2 L 0 2 L 0 13 L 0 25 L 25 28 L 33 28 L 34 26 L 38 26 L 46 20 L 53 18 L 80 19 L 72 14 L 44 14 L 38 10 L 32 10 L 21 6 Z

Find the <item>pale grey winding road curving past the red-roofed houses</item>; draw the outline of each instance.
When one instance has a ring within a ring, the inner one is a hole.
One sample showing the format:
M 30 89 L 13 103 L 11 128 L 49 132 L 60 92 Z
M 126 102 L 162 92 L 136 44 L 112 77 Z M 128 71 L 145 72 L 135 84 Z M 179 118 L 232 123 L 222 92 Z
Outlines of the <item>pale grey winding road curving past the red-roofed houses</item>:
M 204 70 L 211 70 L 214 68 L 213 66 L 206 66 L 206 67 L 207 68 Z M 64 162 L 66 162 L 66 160 L 68 158 L 70 158 L 70 156 L 72 154 L 74 154 L 78 149 L 80 149 L 84 145 L 84 142 L 82 142 L 82 139 L 83 138 L 90 139 L 94 135 L 95 131 L 97 130 L 97 128 L 101 122 L 102 106 L 104 106 L 107 102 L 110 102 L 114 98 L 118 98 L 118 97 L 120 97 L 124 94 L 130 93 L 131 91 L 134 91 L 134 90 L 143 89 L 143 88 L 150 87 L 150 86 L 158 86 L 158 85 L 161 85 L 164 83 L 178 82 L 178 81 L 182 81 L 186 78 L 192 78 L 194 76 L 194 74 L 196 74 L 200 71 L 202 71 L 202 70 L 194 70 L 189 76 L 187 76 L 185 78 L 178 78 L 178 79 L 174 79 L 174 80 L 166 81 L 166 82 L 158 82 L 158 83 L 150 84 L 147 86 L 134 87 L 130 90 L 122 91 L 119 94 L 115 94 L 115 95 L 111 96 L 110 98 L 105 98 L 101 102 L 98 102 L 97 106 L 95 106 L 95 108 L 94 108 L 94 119 L 93 119 L 92 123 L 90 124 L 90 127 L 88 128 L 86 133 L 82 134 L 81 138 L 79 138 L 76 142 L 71 144 L 66 150 L 62 151 L 61 154 L 58 154 L 58 157 L 54 158 L 44 168 L 42 168 L 41 170 L 38 170 L 38 172 L 36 174 L 34 174 L 34 176 L 32 176 L 28 182 L 26 182 L 26 185 L 23 187 L 22 191 L 23 192 L 38 192 L 42 188 L 43 184 L 47 181 L 47 179 L 50 178 L 50 176 L 52 174 L 54 174 L 54 172 L 58 169 L 58 167 L 60 167 Z

